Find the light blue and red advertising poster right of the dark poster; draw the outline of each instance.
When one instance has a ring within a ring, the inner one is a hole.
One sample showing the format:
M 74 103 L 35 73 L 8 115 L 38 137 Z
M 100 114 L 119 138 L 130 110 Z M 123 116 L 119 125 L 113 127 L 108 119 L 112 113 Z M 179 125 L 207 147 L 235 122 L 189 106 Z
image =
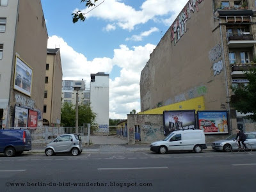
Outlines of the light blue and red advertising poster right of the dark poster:
M 228 133 L 227 111 L 198 111 L 198 127 L 205 134 Z

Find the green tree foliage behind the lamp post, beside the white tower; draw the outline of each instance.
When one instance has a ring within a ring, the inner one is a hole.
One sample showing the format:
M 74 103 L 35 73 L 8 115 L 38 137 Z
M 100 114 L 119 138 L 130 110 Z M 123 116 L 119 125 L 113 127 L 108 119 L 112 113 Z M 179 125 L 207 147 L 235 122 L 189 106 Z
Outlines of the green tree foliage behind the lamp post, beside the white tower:
M 84 123 L 93 124 L 95 118 L 96 113 L 93 113 L 90 105 L 78 106 L 78 126 L 83 126 Z M 76 126 L 76 108 L 71 103 L 65 102 L 61 107 L 61 126 Z

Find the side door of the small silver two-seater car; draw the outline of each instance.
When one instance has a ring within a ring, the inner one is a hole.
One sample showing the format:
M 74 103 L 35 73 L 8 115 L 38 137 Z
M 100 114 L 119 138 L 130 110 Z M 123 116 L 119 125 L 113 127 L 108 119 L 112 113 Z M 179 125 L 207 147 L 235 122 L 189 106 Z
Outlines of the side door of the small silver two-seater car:
M 54 144 L 56 152 L 68 152 L 72 147 L 72 136 L 63 135 L 56 139 L 56 143 Z

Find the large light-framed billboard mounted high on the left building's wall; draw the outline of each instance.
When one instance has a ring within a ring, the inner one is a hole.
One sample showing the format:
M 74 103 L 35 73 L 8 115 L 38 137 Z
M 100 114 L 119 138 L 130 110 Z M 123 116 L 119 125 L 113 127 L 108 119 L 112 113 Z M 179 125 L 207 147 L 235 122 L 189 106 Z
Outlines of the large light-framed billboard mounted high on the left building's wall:
M 33 69 L 16 56 L 13 88 L 31 96 Z

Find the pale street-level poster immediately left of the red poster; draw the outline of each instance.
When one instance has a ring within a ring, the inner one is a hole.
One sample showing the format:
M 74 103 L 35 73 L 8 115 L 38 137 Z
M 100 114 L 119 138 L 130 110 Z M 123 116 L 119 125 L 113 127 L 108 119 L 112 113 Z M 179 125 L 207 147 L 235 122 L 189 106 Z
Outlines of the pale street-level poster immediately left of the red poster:
M 28 127 L 28 109 L 15 106 L 14 127 Z

